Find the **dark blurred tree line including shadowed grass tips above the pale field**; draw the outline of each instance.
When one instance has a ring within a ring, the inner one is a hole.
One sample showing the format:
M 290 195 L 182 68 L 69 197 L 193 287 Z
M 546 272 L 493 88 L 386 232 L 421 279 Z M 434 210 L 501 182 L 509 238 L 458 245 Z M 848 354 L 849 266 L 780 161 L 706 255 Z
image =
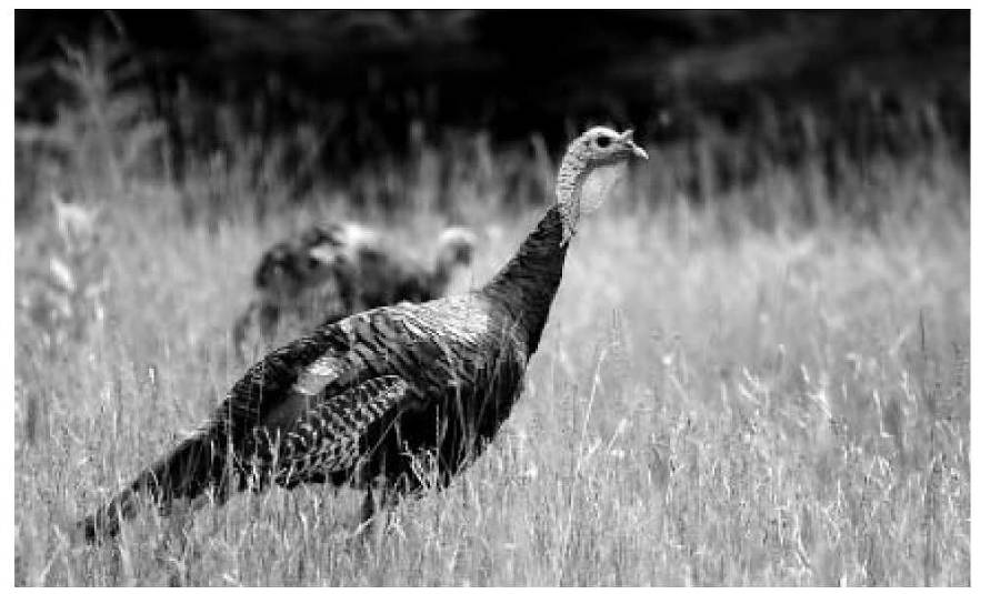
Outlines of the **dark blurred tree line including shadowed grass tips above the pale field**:
M 170 177 L 212 173 L 239 139 L 286 147 L 268 167 L 293 193 L 454 130 L 560 145 L 611 123 L 697 140 L 724 184 L 756 167 L 730 150 L 968 151 L 969 24 L 968 10 L 18 10 L 16 120 L 51 125 L 81 94 L 128 89 L 119 113 L 156 122 L 142 138 L 168 147 Z M 81 83 L 101 51 L 120 75 Z

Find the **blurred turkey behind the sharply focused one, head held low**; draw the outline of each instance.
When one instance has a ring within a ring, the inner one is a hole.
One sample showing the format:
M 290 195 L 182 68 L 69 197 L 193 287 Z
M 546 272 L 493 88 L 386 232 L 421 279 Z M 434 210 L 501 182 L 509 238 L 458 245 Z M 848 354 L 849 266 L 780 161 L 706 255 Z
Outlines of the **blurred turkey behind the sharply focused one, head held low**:
M 301 334 L 360 311 L 443 296 L 454 270 L 471 262 L 474 240 L 469 230 L 444 230 L 428 268 L 369 228 L 313 225 L 264 252 L 253 274 L 257 296 L 233 324 L 234 349 L 254 326 L 269 344 L 281 328 Z

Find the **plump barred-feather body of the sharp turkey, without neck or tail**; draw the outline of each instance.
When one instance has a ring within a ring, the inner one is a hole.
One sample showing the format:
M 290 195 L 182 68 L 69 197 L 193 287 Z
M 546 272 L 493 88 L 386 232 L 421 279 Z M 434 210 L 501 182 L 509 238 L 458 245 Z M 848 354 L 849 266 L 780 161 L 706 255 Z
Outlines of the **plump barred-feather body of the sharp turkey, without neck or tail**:
M 523 325 L 479 293 L 353 315 L 251 371 L 220 410 L 220 445 L 244 444 L 237 459 L 250 487 L 257 473 L 282 486 L 381 476 L 406 489 L 419 484 L 409 454 L 421 451 L 436 451 L 447 481 L 510 414 L 526 343 Z M 323 404 L 317 430 L 308 417 Z

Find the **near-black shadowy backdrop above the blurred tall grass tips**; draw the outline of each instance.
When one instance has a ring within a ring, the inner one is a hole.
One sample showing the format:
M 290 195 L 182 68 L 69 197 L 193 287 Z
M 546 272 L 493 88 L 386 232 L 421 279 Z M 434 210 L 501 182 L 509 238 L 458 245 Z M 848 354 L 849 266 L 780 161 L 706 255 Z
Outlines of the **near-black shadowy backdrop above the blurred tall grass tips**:
M 160 92 L 183 80 L 240 101 L 280 85 L 294 91 L 282 101 L 290 114 L 337 105 L 387 118 L 387 129 L 420 117 L 500 135 L 557 133 L 573 119 L 649 124 L 663 109 L 739 125 L 761 97 L 831 104 L 913 94 L 958 117 L 969 101 L 964 10 L 19 10 L 16 19 L 18 66 L 113 28 Z M 58 88 L 44 73 L 30 79 L 18 115 L 50 117 Z

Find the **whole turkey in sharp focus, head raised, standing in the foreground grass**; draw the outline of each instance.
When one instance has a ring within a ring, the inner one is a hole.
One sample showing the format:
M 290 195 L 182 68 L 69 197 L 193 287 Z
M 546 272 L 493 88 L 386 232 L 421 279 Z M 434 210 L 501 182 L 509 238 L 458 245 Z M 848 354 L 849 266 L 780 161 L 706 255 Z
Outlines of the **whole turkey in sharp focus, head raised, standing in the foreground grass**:
M 562 160 L 556 204 L 482 289 L 361 312 L 268 354 L 193 436 L 82 520 L 83 534 L 116 534 L 144 492 L 166 512 L 174 499 L 324 482 L 368 489 L 368 509 L 372 485 L 404 494 L 433 472 L 447 486 L 510 414 L 581 213 L 631 155 L 647 157 L 631 131 L 587 131 Z

